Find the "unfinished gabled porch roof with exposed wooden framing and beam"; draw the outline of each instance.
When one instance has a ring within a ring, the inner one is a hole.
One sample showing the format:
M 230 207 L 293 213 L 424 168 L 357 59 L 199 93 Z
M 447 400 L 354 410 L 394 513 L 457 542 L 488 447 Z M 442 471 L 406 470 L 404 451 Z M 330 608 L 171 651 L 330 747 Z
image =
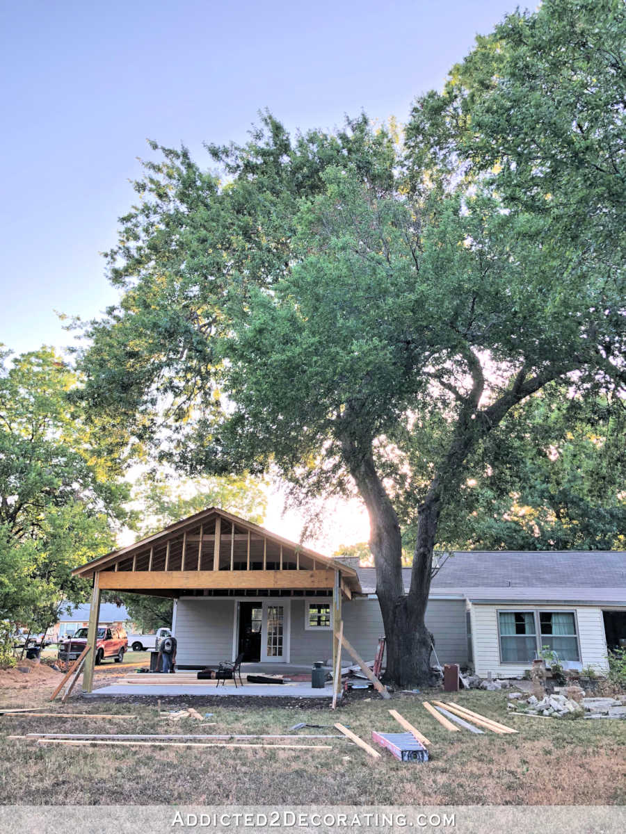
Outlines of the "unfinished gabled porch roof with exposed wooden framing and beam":
M 101 590 L 161 596 L 230 592 L 361 593 L 356 570 L 225 510 L 210 507 L 73 570 Z

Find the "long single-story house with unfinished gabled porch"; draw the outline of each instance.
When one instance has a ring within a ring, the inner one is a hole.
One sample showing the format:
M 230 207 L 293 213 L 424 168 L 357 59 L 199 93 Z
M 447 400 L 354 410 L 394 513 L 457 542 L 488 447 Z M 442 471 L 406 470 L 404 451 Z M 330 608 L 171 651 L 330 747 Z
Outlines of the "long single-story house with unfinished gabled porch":
M 341 620 L 356 651 L 373 659 L 383 634 L 375 570 L 356 561 L 331 559 L 214 507 L 74 574 L 93 578 L 93 634 L 102 590 L 164 595 L 176 600 L 178 668 L 243 654 L 278 671 L 329 661 Z M 516 676 L 548 645 L 568 663 L 605 671 L 607 639 L 626 637 L 623 566 L 623 553 L 444 555 L 427 609 L 438 662 Z M 92 679 L 87 667 L 88 691 Z

